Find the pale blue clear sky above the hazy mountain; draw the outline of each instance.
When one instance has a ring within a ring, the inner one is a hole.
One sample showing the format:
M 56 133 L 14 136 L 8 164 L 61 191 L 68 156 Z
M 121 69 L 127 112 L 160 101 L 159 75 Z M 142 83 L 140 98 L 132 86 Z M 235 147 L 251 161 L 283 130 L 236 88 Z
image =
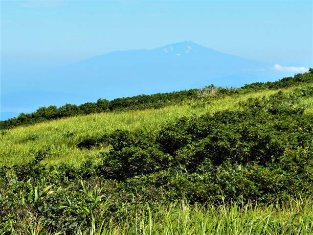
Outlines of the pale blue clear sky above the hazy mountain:
M 3 1 L 1 67 L 58 66 L 113 50 L 193 41 L 310 66 L 313 1 Z

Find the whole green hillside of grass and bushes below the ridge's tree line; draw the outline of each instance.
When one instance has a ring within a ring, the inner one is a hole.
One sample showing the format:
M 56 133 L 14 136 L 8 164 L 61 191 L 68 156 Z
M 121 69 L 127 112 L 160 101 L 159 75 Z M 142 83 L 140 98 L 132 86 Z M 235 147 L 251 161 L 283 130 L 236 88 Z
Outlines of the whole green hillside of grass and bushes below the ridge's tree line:
M 0 235 L 312 234 L 312 78 L 2 129 Z

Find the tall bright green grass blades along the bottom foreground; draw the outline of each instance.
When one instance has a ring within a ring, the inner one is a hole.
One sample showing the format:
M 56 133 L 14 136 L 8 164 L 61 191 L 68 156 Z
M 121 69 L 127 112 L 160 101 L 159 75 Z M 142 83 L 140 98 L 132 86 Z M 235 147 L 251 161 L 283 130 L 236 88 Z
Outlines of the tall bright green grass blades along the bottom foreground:
M 89 228 L 79 235 L 312 235 L 312 198 L 291 198 L 289 203 L 259 205 L 189 205 L 185 200 L 161 205 L 156 210 L 138 207 L 134 214 L 114 221 L 96 222 L 90 212 Z M 45 230 L 41 218 L 21 220 L 19 234 L 35 235 Z M 36 222 L 35 222 L 36 221 Z M 35 231 L 35 232 L 34 232 Z M 54 234 L 58 234 L 57 232 Z M 60 233 L 61 234 L 61 233 Z

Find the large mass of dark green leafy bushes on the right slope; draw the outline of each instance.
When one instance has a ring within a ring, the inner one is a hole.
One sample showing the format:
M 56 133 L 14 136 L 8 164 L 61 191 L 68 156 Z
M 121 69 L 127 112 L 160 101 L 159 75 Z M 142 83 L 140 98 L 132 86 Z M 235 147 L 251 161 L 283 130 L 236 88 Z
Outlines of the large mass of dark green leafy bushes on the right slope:
M 222 195 L 267 201 L 311 190 L 313 116 L 294 105 L 304 96 L 312 97 L 313 87 L 249 99 L 239 111 L 180 118 L 149 140 L 118 131 L 98 174 L 187 193 L 195 202 Z

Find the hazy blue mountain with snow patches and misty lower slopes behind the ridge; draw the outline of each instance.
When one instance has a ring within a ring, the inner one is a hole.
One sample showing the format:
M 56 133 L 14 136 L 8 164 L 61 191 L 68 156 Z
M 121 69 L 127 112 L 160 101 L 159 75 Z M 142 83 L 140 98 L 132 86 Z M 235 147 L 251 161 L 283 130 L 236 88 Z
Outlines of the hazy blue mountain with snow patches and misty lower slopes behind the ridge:
M 1 113 L 5 116 L 1 119 L 35 111 L 39 106 L 81 104 L 210 84 L 239 87 L 297 73 L 277 68 L 189 41 L 156 49 L 114 51 L 53 70 L 2 74 Z

